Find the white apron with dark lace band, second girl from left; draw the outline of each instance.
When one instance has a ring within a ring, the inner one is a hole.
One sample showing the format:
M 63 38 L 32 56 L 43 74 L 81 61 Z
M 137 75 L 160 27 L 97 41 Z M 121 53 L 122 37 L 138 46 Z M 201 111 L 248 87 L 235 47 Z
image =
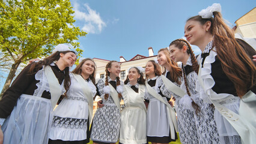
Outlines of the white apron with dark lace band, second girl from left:
M 91 87 L 91 80 L 87 82 L 79 74 L 70 73 L 70 77 L 71 85 L 67 97 L 53 110 L 54 118 L 49 132 L 51 140 L 75 141 L 88 137 L 87 123 L 91 124 L 96 88 Z

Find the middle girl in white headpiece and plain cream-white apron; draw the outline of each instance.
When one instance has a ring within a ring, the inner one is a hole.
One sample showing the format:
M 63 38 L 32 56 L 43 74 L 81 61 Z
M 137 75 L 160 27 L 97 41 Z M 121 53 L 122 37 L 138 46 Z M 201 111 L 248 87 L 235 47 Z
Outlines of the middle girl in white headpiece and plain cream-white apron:
M 144 104 L 145 79 L 142 67 L 131 67 L 123 86 L 124 109 L 121 113 L 119 142 L 147 143 L 147 109 Z

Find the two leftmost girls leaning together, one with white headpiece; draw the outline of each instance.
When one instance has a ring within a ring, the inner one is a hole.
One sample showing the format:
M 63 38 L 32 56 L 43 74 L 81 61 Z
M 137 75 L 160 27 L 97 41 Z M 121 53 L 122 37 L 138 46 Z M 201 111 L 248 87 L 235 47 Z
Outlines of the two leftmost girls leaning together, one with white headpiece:
M 88 143 L 96 65 L 59 44 L 26 66 L 0 101 L 0 143 Z M 55 108 L 60 96 L 61 103 Z

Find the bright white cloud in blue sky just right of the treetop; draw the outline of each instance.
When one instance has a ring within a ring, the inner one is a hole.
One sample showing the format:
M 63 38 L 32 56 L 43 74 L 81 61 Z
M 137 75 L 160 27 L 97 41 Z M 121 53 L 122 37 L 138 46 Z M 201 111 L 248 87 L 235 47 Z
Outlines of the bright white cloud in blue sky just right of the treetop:
M 82 9 L 82 10 L 81 10 Z M 100 13 L 96 10 L 92 10 L 88 4 L 84 4 L 83 7 L 79 7 L 79 4 L 74 4 L 75 19 L 81 20 L 83 24 L 82 30 L 87 33 L 95 34 L 102 32 L 102 29 L 106 27 L 106 23 L 100 17 Z

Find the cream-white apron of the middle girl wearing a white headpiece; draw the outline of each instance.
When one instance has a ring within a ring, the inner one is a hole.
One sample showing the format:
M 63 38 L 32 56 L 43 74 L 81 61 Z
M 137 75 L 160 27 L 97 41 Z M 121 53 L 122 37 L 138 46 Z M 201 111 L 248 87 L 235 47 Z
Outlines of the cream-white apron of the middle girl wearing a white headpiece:
M 147 109 L 144 104 L 145 86 L 139 85 L 136 93 L 124 85 L 124 104 L 121 113 L 120 142 L 124 144 L 147 143 Z

